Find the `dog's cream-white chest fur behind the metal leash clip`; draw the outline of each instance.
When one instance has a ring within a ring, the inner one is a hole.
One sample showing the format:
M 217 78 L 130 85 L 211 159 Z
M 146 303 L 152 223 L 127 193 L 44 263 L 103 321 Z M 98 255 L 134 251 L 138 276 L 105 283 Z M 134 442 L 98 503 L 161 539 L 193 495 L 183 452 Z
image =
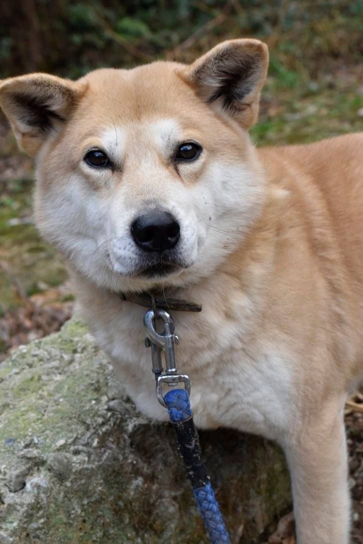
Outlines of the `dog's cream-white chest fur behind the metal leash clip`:
M 143 314 L 133 304 L 93 319 L 97 341 L 110 355 L 122 384 L 141 412 L 167 419 L 155 397 L 151 350 L 145 347 Z M 207 308 L 208 310 L 208 308 Z M 276 346 L 246 345 L 248 322 L 230 314 L 173 314 L 180 344 L 176 363 L 191 379 L 195 421 L 202 428 L 231 426 L 276 438 L 289 424 L 293 385 L 288 361 Z

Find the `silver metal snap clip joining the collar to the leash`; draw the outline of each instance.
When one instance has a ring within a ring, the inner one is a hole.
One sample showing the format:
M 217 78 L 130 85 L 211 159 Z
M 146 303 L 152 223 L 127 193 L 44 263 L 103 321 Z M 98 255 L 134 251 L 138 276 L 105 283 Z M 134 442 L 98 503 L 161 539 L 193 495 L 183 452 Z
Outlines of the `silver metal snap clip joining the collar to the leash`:
M 161 318 L 164 322 L 164 331 L 159 333 L 156 330 L 155 319 Z M 184 383 L 185 391 L 190 396 L 190 380 L 185 374 L 178 374 L 175 364 L 174 344 L 179 343 L 179 338 L 174 335 L 174 322 L 171 315 L 161 308 L 148 310 L 143 318 L 143 324 L 146 330 L 145 345 L 151 347 L 151 357 L 153 363 L 153 373 L 157 380 L 157 398 L 162 406 L 167 408 L 164 397 L 162 396 L 162 386 L 167 384 L 174 387 L 177 384 Z M 165 371 L 162 364 L 161 353 L 165 355 Z M 165 372 L 165 374 L 163 374 Z

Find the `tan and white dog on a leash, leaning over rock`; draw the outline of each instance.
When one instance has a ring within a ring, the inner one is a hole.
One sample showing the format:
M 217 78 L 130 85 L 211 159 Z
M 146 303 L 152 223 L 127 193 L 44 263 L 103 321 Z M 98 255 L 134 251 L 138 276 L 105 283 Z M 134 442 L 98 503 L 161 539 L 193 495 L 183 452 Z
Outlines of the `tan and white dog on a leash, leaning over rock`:
M 299 544 L 346 544 L 363 137 L 254 149 L 267 64 L 264 44 L 233 40 L 191 66 L 7 79 L 0 101 L 36 157 L 37 226 L 68 259 L 80 311 L 136 405 L 166 418 L 145 309 L 117 293 L 202 302 L 201 314 L 173 314 L 197 424 L 281 444 Z

